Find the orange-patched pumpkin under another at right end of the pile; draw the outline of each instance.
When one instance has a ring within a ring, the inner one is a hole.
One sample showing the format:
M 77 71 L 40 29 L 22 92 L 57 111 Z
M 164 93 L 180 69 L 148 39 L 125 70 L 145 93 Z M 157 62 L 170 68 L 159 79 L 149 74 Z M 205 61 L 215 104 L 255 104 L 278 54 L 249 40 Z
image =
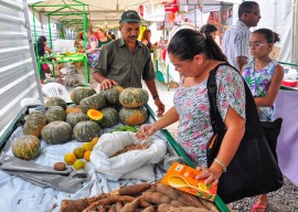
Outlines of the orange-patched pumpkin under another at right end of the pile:
M 145 106 L 138 108 L 121 108 L 119 112 L 120 121 L 125 125 L 136 126 L 143 124 L 148 118 L 148 110 Z

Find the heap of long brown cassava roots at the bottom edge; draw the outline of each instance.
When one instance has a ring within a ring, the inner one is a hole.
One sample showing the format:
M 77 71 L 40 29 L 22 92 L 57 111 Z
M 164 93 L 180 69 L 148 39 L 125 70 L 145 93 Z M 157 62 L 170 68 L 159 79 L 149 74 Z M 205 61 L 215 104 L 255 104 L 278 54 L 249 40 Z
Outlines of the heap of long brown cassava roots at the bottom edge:
M 61 212 L 73 211 L 217 212 L 217 209 L 206 200 L 162 183 L 141 183 L 92 198 L 61 202 Z

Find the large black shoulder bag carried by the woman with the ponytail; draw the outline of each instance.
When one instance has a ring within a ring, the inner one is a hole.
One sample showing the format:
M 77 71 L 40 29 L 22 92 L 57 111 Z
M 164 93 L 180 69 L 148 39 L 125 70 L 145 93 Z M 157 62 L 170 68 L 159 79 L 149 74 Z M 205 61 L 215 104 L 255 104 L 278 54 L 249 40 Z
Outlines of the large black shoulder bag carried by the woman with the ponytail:
M 226 131 L 216 106 L 215 75 L 219 66 L 210 72 L 207 78 L 211 125 L 214 132 L 213 138 L 207 144 L 207 167 L 217 156 Z M 235 74 L 240 73 L 235 70 Z M 227 171 L 221 176 L 217 188 L 217 194 L 225 203 L 268 193 L 283 187 L 283 173 L 260 128 L 252 93 L 245 82 L 244 85 L 246 98 L 245 134 L 235 156 L 227 166 Z

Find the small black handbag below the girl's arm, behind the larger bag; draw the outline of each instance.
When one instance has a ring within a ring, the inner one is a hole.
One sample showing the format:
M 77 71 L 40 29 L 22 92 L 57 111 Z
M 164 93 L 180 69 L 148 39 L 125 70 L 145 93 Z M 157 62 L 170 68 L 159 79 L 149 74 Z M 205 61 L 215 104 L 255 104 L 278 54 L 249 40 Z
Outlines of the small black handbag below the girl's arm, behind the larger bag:
M 274 158 L 277 161 L 276 145 L 277 138 L 281 130 L 283 118 L 277 118 L 274 121 L 260 121 L 260 127 L 268 141 Z

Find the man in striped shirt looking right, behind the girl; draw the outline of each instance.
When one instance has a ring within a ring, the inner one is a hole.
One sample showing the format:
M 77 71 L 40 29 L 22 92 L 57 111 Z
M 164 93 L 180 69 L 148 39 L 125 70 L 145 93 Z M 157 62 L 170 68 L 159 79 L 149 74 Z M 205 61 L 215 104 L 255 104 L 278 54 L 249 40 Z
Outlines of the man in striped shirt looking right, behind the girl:
M 255 1 L 244 1 L 238 8 L 238 21 L 223 35 L 223 53 L 231 65 L 237 70 L 248 63 L 249 28 L 256 26 L 259 19 L 259 7 Z

